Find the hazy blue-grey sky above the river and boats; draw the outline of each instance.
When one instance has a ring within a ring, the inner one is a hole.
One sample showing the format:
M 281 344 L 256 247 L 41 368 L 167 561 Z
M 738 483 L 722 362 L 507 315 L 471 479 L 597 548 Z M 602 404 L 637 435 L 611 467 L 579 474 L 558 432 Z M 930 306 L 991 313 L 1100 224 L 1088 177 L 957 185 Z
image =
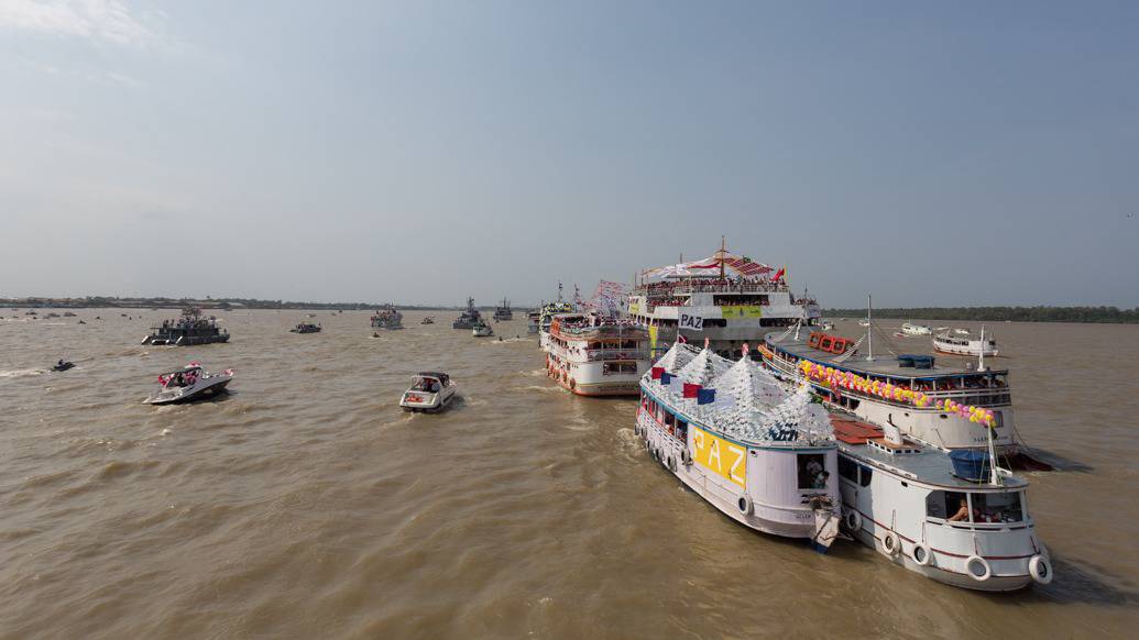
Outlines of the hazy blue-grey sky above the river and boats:
M 0 0 L 0 297 L 490 304 L 730 251 L 1139 305 L 1139 3 Z

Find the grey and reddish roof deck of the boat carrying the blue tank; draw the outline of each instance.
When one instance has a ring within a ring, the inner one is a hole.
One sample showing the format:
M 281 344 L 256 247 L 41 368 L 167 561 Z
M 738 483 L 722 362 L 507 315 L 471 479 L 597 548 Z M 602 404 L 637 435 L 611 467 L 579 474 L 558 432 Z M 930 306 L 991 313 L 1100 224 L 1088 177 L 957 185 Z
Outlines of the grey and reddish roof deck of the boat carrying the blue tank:
M 940 449 L 907 440 L 904 449 L 913 452 L 891 453 L 886 449 L 870 444 L 883 437 L 880 427 L 837 415 L 831 415 L 830 422 L 835 427 L 835 437 L 838 440 L 841 452 L 862 461 L 869 461 L 872 466 L 896 473 L 915 482 L 972 492 L 1029 486 L 1029 483 L 1023 478 L 1001 471 L 998 471 L 997 475 L 1000 485 L 959 478 L 953 475 L 953 465 L 949 454 Z

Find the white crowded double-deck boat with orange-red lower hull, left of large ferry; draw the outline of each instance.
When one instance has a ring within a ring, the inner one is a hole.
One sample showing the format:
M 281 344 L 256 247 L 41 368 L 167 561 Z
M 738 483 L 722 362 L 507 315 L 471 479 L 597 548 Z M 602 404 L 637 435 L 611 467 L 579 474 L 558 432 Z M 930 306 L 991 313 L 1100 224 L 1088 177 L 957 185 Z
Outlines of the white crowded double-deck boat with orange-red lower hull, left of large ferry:
M 596 312 L 559 313 L 550 323 L 546 372 L 577 395 L 637 395 L 652 360 L 648 331 Z

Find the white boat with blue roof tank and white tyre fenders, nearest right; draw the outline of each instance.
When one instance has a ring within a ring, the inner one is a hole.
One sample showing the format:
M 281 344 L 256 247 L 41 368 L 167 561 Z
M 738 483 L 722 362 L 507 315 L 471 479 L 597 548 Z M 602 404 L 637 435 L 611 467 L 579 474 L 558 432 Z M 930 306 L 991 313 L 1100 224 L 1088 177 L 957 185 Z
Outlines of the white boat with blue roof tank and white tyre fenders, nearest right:
M 1027 482 L 901 436 L 831 416 L 846 533 L 926 577 L 983 591 L 1052 580 L 1048 549 L 1027 511 Z M 977 473 L 980 471 L 980 473 Z

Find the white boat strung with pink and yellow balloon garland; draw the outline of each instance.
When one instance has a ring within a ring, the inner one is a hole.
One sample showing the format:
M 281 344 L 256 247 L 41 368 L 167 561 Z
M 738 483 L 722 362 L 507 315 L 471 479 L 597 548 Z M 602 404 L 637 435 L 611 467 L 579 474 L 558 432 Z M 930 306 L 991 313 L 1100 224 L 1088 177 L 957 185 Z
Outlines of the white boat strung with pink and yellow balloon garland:
M 932 355 L 874 356 L 860 352 L 867 337 L 772 331 L 760 353 L 777 377 L 805 378 L 823 402 L 863 420 L 893 422 L 941 449 L 984 448 L 991 428 L 998 452 L 1016 453 L 1007 370 L 947 366 Z

